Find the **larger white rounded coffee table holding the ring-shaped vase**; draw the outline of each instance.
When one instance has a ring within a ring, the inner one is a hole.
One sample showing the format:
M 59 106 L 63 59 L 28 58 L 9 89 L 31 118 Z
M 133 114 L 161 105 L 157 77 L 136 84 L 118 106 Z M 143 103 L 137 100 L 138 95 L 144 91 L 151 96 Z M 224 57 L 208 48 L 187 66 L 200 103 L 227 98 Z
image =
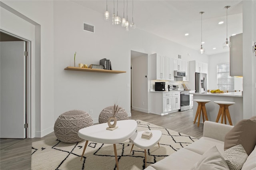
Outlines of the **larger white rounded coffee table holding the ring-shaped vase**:
M 106 130 L 106 128 L 108 127 L 108 123 L 102 123 L 80 129 L 78 131 L 78 136 L 86 140 L 81 160 L 84 156 L 88 141 L 104 144 L 113 144 L 116 157 L 116 167 L 118 169 L 116 143 L 124 142 L 125 140 L 130 138 L 137 129 L 137 122 L 134 120 L 117 121 L 116 126 L 118 126 L 118 128 L 113 131 Z

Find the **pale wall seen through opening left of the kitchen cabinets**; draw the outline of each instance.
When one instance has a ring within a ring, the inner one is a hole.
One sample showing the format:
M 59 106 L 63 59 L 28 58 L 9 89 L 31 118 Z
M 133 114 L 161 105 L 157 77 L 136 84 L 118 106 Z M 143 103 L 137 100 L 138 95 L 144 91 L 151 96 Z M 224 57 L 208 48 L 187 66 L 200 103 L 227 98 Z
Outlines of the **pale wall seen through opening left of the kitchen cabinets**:
M 148 113 L 148 55 L 131 59 L 133 70 L 133 97 L 132 109 Z M 143 104 L 143 103 L 144 104 Z

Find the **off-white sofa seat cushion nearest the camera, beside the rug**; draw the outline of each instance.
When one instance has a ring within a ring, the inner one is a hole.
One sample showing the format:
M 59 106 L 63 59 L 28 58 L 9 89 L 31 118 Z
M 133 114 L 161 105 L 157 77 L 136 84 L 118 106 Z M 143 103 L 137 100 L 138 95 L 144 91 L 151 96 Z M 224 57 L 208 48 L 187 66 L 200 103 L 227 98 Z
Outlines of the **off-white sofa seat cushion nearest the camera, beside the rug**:
M 146 170 L 189 170 L 201 157 L 200 154 L 181 148 L 170 156 L 151 164 Z

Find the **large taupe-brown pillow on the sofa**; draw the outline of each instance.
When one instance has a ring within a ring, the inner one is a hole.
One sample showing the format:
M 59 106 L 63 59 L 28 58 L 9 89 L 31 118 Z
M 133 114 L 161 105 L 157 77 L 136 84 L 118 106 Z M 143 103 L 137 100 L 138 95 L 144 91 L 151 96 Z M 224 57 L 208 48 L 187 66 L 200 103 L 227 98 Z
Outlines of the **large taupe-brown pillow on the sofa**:
M 244 119 L 238 122 L 225 136 L 224 150 L 242 144 L 248 155 L 256 145 L 256 120 Z

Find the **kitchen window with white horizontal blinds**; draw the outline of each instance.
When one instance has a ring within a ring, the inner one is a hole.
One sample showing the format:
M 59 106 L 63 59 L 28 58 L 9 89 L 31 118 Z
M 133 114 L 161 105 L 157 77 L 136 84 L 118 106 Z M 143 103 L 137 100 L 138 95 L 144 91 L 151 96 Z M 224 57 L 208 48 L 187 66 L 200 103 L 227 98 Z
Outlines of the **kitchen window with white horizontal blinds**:
M 234 77 L 229 76 L 229 63 L 217 64 L 218 89 L 234 90 Z

